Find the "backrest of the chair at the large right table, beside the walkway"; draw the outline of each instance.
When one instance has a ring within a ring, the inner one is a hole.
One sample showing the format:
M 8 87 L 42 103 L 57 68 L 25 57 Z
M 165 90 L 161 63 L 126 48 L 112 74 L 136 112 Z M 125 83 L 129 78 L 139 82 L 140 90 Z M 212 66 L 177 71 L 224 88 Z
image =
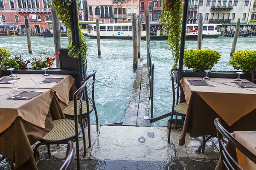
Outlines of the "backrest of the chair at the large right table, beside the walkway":
M 177 68 L 172 68 L 170 70 L 170 76 L 171 76 L 171 80 L 172 80 L 172 112 L 173 112 L 174 106 L 179 103 L 180 70 Z M 176 93 L 177 93 L 177 95 L 176 95 Z M 175 104 L 175 101 L 176 101 L 176 104 Z

